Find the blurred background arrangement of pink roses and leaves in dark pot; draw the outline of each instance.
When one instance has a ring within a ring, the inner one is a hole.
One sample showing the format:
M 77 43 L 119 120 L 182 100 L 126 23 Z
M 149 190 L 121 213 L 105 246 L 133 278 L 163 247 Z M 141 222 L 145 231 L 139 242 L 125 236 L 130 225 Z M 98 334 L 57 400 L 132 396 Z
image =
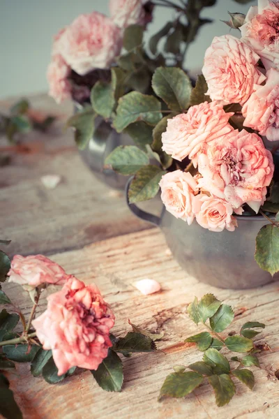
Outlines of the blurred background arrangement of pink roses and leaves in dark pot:
M 199 28 L 211 22 L 201 13 L 216 0 L 186 3 L 110 0 L 110 17 L 96 11 L 80 15 L 54 38 L 47 70 L 50 96 L 57 102 L 73 100 L 76 113 L 68 126 L 75 128 L 82 158 L 112 187 L 123 189 L 126 179 L 103 167 L 105 157 L 119 145 L 133 144 L 133 140 L 144 147 L 137 126 L 126 127 L 121 133 L 114 129 L 112 119 L 119 98 L 129 92 L 152 94 L 151 79 L 156 68 L 181 67 Z M 171 18 L 149 44 L 144 43 L 146 27 L 158 7 L 165 7 L 172 13 Z

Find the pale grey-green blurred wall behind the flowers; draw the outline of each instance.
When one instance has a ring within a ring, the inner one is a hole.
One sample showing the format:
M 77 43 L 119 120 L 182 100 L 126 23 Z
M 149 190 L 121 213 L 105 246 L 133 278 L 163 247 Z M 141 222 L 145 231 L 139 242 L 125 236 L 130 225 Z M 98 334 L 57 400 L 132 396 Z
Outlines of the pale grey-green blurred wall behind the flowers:
M 52 36 L 80 15 L 93 10 L 108 14 L 109 0 L 0 0 L 0 98 L 16 94 L 47 91 L 45 71 L 50 61 Z M 203 17 L 214 20 L 199 32 L 188 50 L 187 68 L 194 73 L 202 67 L 204 51 L 213 36 L 229 33 L 222 20 L 230 12 L 247 13 L 252 1 L 241 5 L 233 0 L 218 0 L 205 8 Z M 169 9 L 156 8 L 149 34 L 154 34 L 169 17 Z M 232 31 L 237 36 L 238 31 Z

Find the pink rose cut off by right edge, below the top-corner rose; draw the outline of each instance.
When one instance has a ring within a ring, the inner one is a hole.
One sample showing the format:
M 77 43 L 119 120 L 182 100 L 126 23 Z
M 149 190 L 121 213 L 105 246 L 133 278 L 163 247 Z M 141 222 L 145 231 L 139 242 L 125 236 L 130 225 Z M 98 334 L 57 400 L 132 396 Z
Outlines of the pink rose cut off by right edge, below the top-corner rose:
M 279 140 L 279 71 L 271 68 L 266 73 L 264 86 L 255 85 L 255 91 L 243 105 L 244 126 L 250 126 L 269 141 Z

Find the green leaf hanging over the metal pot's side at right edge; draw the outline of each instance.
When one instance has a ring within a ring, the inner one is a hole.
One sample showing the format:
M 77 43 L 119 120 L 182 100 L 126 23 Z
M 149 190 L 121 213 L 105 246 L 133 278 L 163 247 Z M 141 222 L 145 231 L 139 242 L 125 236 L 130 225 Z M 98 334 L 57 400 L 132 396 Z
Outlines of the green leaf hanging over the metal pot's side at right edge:
M 255 260 L 259 267 L 271 275 L 279 270 L 279 228 L 273 224 L 263 226 L 256 237 Z

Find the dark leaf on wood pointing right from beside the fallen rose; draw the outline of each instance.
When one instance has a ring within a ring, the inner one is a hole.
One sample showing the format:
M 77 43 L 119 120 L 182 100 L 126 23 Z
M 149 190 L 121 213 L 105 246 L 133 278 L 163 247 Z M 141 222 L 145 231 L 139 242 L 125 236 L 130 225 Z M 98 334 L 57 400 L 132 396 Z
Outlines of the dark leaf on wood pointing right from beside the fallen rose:
M 153 352 L 156 351 L 155 342 L 141 333 L 128 332 L 126 337 L 119 337 L 113 350 L 121 353 Z

